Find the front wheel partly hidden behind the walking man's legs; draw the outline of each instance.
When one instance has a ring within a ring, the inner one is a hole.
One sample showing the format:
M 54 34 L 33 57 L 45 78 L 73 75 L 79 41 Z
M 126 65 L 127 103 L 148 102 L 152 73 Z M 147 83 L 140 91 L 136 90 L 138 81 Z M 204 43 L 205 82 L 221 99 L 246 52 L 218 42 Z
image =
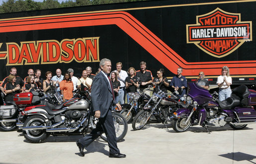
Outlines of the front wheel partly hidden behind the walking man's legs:
M 120 142 L 125 138 L 125 136 L 127 134 L 128 123 L 127 123 L 127 120 L 125 119 L 125 117 L 120 113 L 113 112 L 112 117 L 113 117 L 113 121 L 114 121 L 117 142 Z M 96 119 L 96 118 L 92 119 L 92 122 L 91 122 L 91 124 L 92 124 L 91 128 L 92 129 L 96 128 L 97 122 L 98 122 L 98 119 Z M 104 141 L 106 141 L 106 142 L 108 141 L 107 136 L 106 136 L 105 133 L 103 133 L 100 137 Z

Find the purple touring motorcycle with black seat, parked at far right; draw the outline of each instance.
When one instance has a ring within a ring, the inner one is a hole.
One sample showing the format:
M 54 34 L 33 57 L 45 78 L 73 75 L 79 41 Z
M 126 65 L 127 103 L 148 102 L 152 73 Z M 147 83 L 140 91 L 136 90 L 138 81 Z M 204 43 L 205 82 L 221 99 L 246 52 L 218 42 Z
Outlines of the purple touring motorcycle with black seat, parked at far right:
M 189 83 L 188 95 L 185 95 L 186 108 L 172 114 L 172 128 L 184 132 L 191 125 L 222 127 L 229 124 L 233 129 L 243 129 L 247 124 L 256 123 L 256 91 L 241 85 L 234 88 L 231 97 L 220 101 L 218 94 L 195 83 Z

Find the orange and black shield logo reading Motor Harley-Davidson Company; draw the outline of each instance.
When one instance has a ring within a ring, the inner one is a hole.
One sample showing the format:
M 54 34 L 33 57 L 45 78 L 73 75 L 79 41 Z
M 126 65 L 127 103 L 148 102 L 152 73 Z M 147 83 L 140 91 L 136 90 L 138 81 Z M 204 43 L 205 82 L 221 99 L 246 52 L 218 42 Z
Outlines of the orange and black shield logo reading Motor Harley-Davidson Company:
M 252 41 L 252 21 L 242 22 L 240 13 L 230 13 L 216 8 L 198 15 L 197 24 L 187 25 L 187 43 L 215 57 L 224 57 Z

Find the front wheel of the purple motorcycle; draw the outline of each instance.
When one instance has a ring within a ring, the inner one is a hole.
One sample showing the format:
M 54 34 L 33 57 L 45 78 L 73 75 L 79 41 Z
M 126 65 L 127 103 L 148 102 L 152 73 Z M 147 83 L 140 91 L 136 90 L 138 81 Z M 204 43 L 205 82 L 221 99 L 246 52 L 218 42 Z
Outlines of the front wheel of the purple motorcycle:
M 185 123 L 187 120 L 187 117 L 185 118 L 174 118 L 172 120 L 172 128 L 176 132 L 184 132 L 191 126 L 191 120 L 188 120 L 187 123 Z

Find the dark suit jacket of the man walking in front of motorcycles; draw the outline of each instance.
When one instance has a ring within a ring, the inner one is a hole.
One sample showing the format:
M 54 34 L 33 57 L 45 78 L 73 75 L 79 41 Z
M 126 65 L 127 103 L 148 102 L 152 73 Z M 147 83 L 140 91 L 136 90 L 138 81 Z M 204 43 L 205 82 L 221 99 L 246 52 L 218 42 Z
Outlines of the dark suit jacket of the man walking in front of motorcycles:
M 116 101 L 112 101 L 113 96 L 109 80 L 102 71 L 93 79 L 91 98 L 93 111 L 100 110 L 100 117 L 105 117 L 108 110 L 111 109 L 113 105 L 115 106 L 117 104 Z

